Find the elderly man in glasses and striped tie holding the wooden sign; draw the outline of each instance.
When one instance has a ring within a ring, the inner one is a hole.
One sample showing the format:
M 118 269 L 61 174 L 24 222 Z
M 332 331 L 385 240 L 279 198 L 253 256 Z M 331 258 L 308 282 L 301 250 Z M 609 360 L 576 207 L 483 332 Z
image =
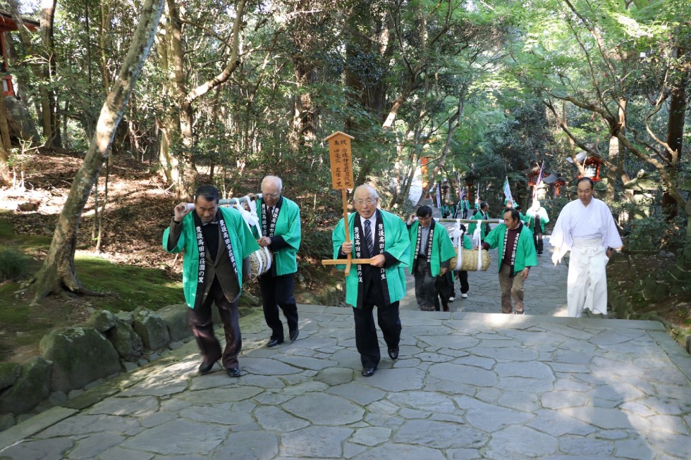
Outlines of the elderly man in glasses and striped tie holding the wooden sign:
M 403 220 L 377 209 L 379 194 L 371 185 L 360 185 L 353 194 L 356 213 L 348 216 L 350 241 L 345 241 L 345 223 L 338 222 L 331 239 L 334 259 L 370 259 L 358 264 L 345 280 L 345 302 L 353 306 L 355 345 L 362 361 L 362 375 L 370 377 L 377 370 L 381 354 L 377 322 L 392 360 L 398 359 L 400 318 L 398 301 L 405 296 L 405 267 L 410 259 L 410 239 Z

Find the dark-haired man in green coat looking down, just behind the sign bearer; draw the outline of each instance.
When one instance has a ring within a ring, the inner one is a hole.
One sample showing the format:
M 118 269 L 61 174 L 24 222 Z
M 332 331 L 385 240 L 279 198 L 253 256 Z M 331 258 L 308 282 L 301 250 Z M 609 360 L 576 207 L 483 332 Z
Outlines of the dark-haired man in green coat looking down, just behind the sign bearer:
M 409 266 L 410 273 L 415 276 L 415 298 L 420 310 L 439 310 L 437 277 L 446 275 L 448 261 L 456 253 L 444 225 L 434 222 L 432 208 L 420 206 L 416 214 L 417 221 L 411 214 L 407 223 L 412 249 Z M 442 304 L 444 311 L 448 311 L 448 297 L 442 299 Z

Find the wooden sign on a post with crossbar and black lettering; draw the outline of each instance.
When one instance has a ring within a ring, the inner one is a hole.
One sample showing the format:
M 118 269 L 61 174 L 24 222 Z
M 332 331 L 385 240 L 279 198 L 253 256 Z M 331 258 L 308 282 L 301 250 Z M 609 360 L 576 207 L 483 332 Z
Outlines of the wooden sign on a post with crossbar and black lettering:
M 341 190 L 343 199 L 343 228 L 345 228 L 345 242 L 350 242 L 350 232 L 348 231 L 348 197 L 346 189 L 355 188 L 353 180 L 353 156 L 350 153 L 350 141 L 355 139 L 345 132 L 336 131 L 326 137 L 329 141 L 329 159 L 331 160 L 331 187 Z M 329 259 L 322 261 L 322 265 L 343 265 L 345 263 L 345 275 L 350 273 L 350 264 L 369 263 L 370 259 L 353 259 L 348 254 L 348 259 Z

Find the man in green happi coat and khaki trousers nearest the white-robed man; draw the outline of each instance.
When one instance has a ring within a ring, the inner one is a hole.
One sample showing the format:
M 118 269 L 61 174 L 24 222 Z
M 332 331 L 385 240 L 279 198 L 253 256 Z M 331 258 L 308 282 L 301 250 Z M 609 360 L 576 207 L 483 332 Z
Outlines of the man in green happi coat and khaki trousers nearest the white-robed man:
M 537 266 L 537 255 L 532 243 L 532 232 L 523 225 L 515 209 L 504 209 L 504 223 L 497 225 L 482 242 L 482 249 L 499 247 L 499 286 L 501 286 L 501 312 L 511 313 L 511 298 L 515 314 L 522 315 L 523 285 L 530 267 Z

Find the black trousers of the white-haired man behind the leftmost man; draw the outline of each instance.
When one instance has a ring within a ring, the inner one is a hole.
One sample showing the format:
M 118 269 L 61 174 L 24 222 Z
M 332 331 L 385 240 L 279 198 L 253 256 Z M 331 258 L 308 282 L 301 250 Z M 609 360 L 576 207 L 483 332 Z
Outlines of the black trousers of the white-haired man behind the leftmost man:
M 283 340 L 283 323 L 279 316 L 279 307 L 288 321 L 288 331 L 298 328 L 298 306 L 293 297 L 293 278 L 295 273 L 271 276 L 265 273 L 259 277 L 259 287 L 262 290 L 262 304 L 264 319 L 271 328 L 271 338 Z

